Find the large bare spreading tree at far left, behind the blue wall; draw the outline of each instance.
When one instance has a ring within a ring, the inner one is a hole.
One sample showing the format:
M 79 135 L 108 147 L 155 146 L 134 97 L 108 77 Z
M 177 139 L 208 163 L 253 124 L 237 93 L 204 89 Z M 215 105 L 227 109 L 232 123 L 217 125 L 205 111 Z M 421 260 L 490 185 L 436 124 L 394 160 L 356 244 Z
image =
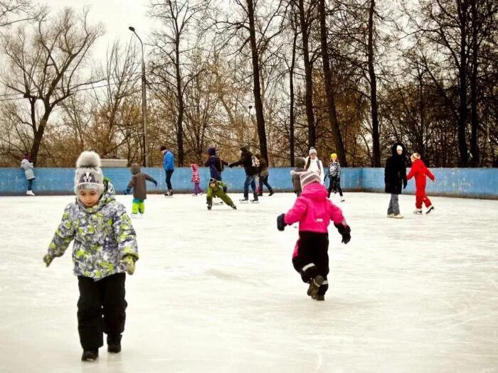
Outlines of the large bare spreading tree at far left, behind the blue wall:
M 9 92 L 21 94 L 28 102 L 29 117 L 24 123 L 31 126 L 31 158 L 36 163 L 53 109 L 92 81 L 83 78 L 83 70 L 102 26 L 88 23 L 88 10 L 77 16 L 72 9 L 64 9 L 57 16 L 42 16 L 29 31 L 19 28 L 16 35 L 4 38 L 9 73 L 2 80 Z

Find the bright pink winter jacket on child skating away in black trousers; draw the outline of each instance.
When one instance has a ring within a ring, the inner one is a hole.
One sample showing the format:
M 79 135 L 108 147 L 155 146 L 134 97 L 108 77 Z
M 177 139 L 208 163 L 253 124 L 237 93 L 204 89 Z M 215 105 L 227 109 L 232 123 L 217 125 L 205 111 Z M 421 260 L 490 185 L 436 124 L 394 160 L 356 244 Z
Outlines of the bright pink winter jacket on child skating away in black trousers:
M 306 185 L 284 217 L 288 225 L 299 222 L 300 232 L 327 233 L 331 220 L 346 225 L 341 209 L 327 198 L 327 189 L 319 183 Z

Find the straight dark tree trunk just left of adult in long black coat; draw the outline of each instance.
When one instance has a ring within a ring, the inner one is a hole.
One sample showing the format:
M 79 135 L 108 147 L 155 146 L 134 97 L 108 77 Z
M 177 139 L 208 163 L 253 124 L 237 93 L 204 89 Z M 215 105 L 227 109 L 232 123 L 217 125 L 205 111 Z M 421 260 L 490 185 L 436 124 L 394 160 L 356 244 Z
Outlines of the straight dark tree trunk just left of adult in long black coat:
M 372 151 L 373 167 L 381 167 L 381 147 L 378 128 L 378 104 L 377 104 L 377 77 L 373 66 L 373 14 L 375 13 L 375 0 L 370 1 L 369 10 L 369 76 L 370 76 L 370 107 L 372 115 Z

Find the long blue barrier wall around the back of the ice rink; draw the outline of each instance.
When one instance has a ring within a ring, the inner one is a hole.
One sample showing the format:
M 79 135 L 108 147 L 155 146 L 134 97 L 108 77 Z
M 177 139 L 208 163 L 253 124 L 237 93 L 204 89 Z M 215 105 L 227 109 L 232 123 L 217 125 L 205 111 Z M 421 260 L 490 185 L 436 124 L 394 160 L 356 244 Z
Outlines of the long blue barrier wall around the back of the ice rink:
M 102 168 L 106 177 L 118 194 L 122 194 L 131 178 L 129 168 Z M 277 192 L 292 192 L 290 171 L 292 168 L 270 168 L 269 183 Z M 428 195 L 442 195 L 463 198 L 498 199 L 498 168 L 431 168 L 436 182 L 428 180 Z M 165 173 L 162 168 L 144 168 L 159 183 L 157 187 L 147 182 L 148 193 L 164 193 L 166 189 Z M 408 168 L 409 171 L 409 168 Z M 206 189 L 209 169 L 199 168 L 201 188 Z M 341 188 L 344 192 L 384 192 L 383 168 L 342 168 Z M 40 195 L 73 194 L 74 168 L 35 168 L 36 180 L 33 191 Z M 229 193 L 241 193 L 245 173 L 243 168 L 226 168 L 223 181 L 228 184 Z M 190 168 L 175 168 L 171 178 L 176 193 L 191 193 Z M 21 168 L 0 168 L 0 195 L 23 195 L 28 182 Z M 328 185 L 328 180 L 327 180 Z M 266 188 L 264 188 L 266 191 Z M 415 193 L 415 183 L 408 182 L 404 194 Z

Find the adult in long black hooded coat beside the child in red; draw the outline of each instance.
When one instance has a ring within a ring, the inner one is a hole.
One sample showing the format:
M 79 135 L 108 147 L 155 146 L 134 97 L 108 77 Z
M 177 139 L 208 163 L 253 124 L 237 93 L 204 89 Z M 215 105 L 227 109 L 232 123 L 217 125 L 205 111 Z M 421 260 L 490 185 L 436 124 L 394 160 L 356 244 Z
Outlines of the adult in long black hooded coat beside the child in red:
M 406 149 L 403 144 L 394 144 L 391 146 L 392 155 L 386 160 L 384 169 L 384 183 L 386 184 L 386 193 L 391 193 L 389 207 L 387 209 L 388 217 L 401 218 L 403 215 L 399 212 L 398 195 L 401 194 L 401 188 L 406 188 Z

